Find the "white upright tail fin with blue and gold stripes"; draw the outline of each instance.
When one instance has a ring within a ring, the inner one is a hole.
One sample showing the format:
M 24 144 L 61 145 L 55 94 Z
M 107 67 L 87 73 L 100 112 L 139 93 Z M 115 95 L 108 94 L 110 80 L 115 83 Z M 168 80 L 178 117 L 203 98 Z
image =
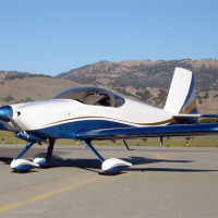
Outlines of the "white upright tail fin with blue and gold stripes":
M 191 71 L 175 69 L 165 110 L 182 114 L 197 113 L 194 76 Z

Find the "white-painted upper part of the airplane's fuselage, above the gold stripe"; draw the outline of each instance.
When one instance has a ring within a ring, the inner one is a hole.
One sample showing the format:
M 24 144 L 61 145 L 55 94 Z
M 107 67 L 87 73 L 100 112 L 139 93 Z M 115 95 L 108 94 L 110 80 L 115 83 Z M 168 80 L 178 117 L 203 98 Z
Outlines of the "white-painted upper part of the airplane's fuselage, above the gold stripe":
M 125 98 L 125 104 L 119 108 L 84 105 L 71 99 L 51 99 L 11 105 L 11 107 L 13 119 L 26 131 L 78 120 L 109 120 L 142 126 L 167 124 L 172 119 L 171 114 L 162 109 L 128 98 Z M 8 125 L 10 129 L 13 128 L 10 123 Z

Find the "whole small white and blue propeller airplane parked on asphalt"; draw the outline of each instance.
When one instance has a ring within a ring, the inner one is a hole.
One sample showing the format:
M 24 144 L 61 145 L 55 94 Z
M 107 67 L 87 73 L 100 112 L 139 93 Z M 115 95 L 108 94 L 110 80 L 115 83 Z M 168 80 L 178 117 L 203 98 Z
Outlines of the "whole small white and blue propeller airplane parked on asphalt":
M 100 160 L 106 173 L 119 173 L 131 162 L 104 159 L 92 145 L 94 140 L 126 140 L 171 136 L 217 136 L 218 123 L 198 124 L 194 76 L 177 68 L 164 109 L 119 96 L 99 87 L 74 87 L 50 100 L 0 107 L 0 129 L 12 131 L 27 145 L 14 157 L 11 168 L 27 172 L 37 167 L 50 167 L 58 157 L 52 155 L 58 138 L 82 141 Z M 21 157 L 35 144 L 49 141 L 47 153 L 33 161 Z

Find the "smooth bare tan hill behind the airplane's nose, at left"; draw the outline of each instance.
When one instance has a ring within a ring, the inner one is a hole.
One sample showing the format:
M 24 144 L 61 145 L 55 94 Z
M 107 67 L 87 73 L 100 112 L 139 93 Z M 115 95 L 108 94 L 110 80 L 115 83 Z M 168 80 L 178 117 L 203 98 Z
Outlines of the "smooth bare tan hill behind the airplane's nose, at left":
M 78 85 L 72 81 L 48 76 L 0 80 L 0 104 L 8 105 L 33 100 L 47 100 L 65 88 Z

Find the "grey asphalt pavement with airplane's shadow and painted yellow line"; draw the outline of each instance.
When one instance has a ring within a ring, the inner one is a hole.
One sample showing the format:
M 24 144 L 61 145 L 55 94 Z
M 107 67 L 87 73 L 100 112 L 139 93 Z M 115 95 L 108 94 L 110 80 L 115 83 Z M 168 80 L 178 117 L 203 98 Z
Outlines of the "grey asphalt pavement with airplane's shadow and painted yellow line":
M 95 146 L 133 166 L 102 175 L 83 145 L 56 146 L 62 161 L 14 173 L 21 145 L 0 145 L 0 217 L 218 217 L 218 148 Z M 46 152 L 34 145 L 25 155 Z

